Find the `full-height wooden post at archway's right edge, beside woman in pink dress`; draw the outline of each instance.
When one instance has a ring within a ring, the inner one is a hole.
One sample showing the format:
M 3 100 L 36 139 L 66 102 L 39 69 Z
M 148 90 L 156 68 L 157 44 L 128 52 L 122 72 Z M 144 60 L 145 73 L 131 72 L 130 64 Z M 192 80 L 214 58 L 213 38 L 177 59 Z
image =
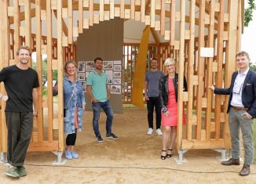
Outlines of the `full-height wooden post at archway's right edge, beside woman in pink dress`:
M 177 150 L 182 149 L 182 119 L 183 119 L 183 80 L 184 80 L 184 50 L 185 50 L 185 1 L 181 1 L 180 50 L 178 60 L 178 96 L 177 96 Z

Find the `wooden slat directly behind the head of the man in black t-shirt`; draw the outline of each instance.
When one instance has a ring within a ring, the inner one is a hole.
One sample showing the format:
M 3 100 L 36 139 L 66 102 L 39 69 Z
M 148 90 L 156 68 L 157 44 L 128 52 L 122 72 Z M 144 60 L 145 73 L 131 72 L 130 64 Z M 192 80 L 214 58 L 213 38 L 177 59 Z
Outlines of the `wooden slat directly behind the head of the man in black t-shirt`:
M 31 48 L 31 1 L 25 1 L 25 44 Z M 31 67 L 31 60 L 28 65 Z

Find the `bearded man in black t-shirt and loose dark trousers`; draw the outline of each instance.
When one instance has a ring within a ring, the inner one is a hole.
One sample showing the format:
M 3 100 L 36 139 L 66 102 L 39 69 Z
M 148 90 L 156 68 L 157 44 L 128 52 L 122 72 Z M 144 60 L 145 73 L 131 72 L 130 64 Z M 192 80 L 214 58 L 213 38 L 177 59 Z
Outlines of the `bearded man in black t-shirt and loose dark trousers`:
M 6 101 L 8 129 L 7 160 L 10 166 L 5 174 L 20 178 L 27 175 L 23 165 L 31 139 L 33 115 L 37 116 L 39 81 L 37 72 L 27 65 L 31 57 L 30 48 L 20 46 L 16 55 L 19 63 L 0 71 L 0 82 L 4 82 L 7 92 L 7 96 L 0 94 L 0 99 Z

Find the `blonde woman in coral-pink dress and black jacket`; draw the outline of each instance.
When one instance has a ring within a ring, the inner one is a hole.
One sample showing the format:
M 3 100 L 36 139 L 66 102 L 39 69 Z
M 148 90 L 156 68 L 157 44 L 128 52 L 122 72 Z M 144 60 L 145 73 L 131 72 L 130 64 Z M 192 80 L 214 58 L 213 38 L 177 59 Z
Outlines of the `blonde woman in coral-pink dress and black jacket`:
M 159 99 L 162 110 L 163 126 L 163 148 L 161 159 L 171 157 L 174 142 L 177 135 L 177 81 L 178 74 L 175 73 L 174 59 L 167 58 L 164 66 L 168 74 L 159 81 Z M 187 91 L 187 82 L 184 77 L 184 91 Z M 183 113 L 183 124 L 185 124 L 185 114 Z M 170 145 L 167 146 L 170 140 Z M 168 150 L 166 148 L 168 147 Z

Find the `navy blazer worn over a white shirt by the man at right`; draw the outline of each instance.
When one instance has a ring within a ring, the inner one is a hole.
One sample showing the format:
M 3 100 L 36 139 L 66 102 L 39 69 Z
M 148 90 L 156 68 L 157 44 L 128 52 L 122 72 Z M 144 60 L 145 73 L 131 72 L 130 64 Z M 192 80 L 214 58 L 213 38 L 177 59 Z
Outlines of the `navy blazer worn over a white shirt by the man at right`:
M 234 86 L 237 74 L 238 74 L 238 71 L 235 71 L 232 74 L 231 84 L 229 88 L 214 89 L 215 94 L 229 95 L 229 106 L 228 106 L 227 113 L 229 113 L 229 110 L 230 110 L 233 86 Z M 250 114 L 251 117 L 255 118 L 256 117 L 256 72 L 254 72 L 251 69 L 248 71 L 247 76 L 243 82 L 242 103 L 244 107 L 249 109 L 247 110 L 247 113 Z

